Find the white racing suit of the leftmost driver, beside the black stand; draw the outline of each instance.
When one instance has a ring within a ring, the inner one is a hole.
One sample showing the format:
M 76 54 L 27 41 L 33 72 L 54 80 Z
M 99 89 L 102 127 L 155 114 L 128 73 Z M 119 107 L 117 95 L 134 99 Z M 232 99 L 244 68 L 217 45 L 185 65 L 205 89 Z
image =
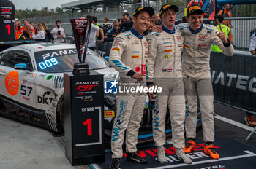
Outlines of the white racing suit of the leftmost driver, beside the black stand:
M 113 123 L 111 151 L 112 158 L 123 156 L 122 145 L 126 131 L 127 152 L 136 152 L 138 130 L 146 106 L 146 93 L 124 92 L 124 87 L 146 87 L 146 79 L 136 82 L 135 72 L 146 74 L 148 42 L 133 28 L 116 36 L 110 50 L 110 66 L 120 72 L 118 93 L 116 95 L 116 118 Z M 121 89 L 121 90 L 119 90 Z

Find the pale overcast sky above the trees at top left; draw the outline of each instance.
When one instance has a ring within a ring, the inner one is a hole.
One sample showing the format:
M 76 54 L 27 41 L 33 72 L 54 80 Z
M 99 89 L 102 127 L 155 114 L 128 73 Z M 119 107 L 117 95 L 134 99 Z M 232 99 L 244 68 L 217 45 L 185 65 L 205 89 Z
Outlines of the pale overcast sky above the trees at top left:
M 65 4 L 71 1 L 78 0 L 9 0 L 15 6 L 15 9 L 42 9 L 42 7 L 56 8 L 61 7 L 61 4 Z

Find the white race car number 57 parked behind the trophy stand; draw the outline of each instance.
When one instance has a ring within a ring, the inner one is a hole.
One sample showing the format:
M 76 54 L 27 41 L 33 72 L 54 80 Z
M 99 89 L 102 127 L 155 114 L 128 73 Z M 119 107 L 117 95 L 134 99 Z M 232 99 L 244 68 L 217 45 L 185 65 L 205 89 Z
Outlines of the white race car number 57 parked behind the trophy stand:
M 78 63 L 75 44 L 34 43 L 9 47 L 0 52 L 0 114 L 53 132 L 64 131 L 64 72 Z M 104 74 L 105 81 L 118 81 L 118 71 L 97 53 L 88 50 L 90 71 Z M 116 114 L 116 94 L 105 93 L 105 141 L 110 142 Z M 138 143 L 153 140 L 154 101 L 148 101 L 140 124 Z M 170 136 L 170 120 L 166 133 Z

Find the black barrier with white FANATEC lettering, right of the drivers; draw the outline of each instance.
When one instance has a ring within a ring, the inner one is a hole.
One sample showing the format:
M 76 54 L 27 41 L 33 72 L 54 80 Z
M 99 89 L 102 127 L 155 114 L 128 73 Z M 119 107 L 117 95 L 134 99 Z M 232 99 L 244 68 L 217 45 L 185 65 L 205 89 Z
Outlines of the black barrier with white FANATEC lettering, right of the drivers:
M 256 57 L 235 51 L 232 57 L 211 52 L 211 78 L 214 100 L 256 111 Z

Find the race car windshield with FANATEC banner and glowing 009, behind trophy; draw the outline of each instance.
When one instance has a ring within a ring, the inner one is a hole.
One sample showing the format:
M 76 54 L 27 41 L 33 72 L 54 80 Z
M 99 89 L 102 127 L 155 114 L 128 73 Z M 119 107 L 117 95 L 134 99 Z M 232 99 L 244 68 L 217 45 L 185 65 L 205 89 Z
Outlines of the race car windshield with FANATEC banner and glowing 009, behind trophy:
M 79 63 L 75 49 L 46 50 L 34 53 L 37 70 L 44 73 L 61 73 L 73 70 L 74 63 Z M 108 64 L 96 53 L 87 51 L 86 62 L 90 70 L 108 68 Z

